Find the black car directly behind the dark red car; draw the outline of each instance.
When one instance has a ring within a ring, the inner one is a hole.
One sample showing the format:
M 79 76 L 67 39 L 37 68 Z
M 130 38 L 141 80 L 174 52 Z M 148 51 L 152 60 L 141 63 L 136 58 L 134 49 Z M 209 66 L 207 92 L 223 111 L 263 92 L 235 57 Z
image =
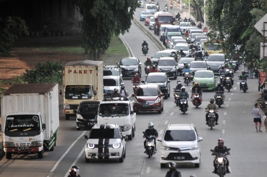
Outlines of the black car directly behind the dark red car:
M 145 79 L 142 81 L 144 84 L 155 84 L 160 87 L 160 91 L 164 93 L 165 98 L 168 99 L 171 94 L 170 80 L 166 73 L 149 73 Z

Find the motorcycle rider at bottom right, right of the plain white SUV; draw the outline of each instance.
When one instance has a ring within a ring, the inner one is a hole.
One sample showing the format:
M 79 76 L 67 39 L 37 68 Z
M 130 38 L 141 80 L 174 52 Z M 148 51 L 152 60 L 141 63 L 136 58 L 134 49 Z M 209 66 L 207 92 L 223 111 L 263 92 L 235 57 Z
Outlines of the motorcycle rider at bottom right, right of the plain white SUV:
M 216 146 L 213 150 L 213 155 L 215 155 L 216 153 L 225 153 L 227 152 L 228 155 L 230 155 L 230 153 L 228 152 L 228 149 L 226 146 L 224 146 L 224 140 L 222 138 L 218 139 L 218 146 Z M 216 166 L 216 160 L 217 158 L 214 159 L 213 161 L 213 166 L 214 166 L 214 172 L 215 174 L 217 174 L 217 166 Z M 226 173 L 231 173 L 229 171 L 229 160 L 227 159 L 227 157 L 225 157 L 226 160 Z

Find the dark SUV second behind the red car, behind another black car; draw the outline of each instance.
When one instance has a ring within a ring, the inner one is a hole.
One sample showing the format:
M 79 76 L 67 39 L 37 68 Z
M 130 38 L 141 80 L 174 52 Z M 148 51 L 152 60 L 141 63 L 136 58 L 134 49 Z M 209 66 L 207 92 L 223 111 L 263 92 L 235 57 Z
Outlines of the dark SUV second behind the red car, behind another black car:
M 177 79 L 177 66 L 173 57 L 161 57 L 158 62 L 158 71 L 167 73 L 169 78 Z

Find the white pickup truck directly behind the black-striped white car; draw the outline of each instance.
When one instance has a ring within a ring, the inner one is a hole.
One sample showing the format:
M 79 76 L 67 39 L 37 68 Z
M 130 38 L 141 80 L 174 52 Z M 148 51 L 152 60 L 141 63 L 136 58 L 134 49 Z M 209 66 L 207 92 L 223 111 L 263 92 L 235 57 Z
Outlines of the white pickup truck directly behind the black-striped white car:
M 123 135 L 132 140 L 135 135 L 136 113 L 130 101 L 102 101 L 99 104 L 97 124 L 118 124 Z

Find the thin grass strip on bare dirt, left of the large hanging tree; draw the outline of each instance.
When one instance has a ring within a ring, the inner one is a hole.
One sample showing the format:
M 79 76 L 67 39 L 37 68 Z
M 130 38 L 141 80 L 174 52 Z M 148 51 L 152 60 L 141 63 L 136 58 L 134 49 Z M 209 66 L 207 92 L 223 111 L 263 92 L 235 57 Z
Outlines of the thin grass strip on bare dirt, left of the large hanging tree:
M 73 54 L 84 54 L 85 49 L 81 46 L 66 46 L 66 47 L 40 47 L 39 51 L 46 52 L 68 52 Z

